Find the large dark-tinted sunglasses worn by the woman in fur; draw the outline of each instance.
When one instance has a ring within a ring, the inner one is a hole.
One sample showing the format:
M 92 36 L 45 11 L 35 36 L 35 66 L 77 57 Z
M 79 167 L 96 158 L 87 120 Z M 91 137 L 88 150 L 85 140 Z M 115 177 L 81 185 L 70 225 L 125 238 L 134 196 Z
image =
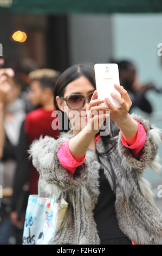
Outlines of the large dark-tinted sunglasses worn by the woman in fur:
M 66 97 L 61 96 L 60 99 L 66 101 L 68 107 L 73 110 L 78 110 L 85 105 L 86 99 L 90 102 L 93 93 L 88 96 L 81 94 L 72 94 Z

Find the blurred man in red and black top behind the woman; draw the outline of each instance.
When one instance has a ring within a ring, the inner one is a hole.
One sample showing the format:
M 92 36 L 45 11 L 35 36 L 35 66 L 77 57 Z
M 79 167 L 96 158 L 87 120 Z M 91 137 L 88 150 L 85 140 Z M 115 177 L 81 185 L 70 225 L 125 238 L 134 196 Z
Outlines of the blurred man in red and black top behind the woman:
M 16 226 L 22 225 L 23 227 L 29 194 L 38 193 L 39 174 L 33 164 L 29 162 L 27 150 L 30 144 L 40 136 L 48 135 L 57 139 L 60 135 L 59 129 L 53 130 L 51 127 L 54 120 L 51 114 L 55 110 L 53 90 L 59 76 L 60 72 L 52 69 L 38 69 L 29 74 L 31 81 L 29 100 L 34 107 L 40 105 L 42 107 L 28 113 L 21 127 L 10 214 L 11 221 Z

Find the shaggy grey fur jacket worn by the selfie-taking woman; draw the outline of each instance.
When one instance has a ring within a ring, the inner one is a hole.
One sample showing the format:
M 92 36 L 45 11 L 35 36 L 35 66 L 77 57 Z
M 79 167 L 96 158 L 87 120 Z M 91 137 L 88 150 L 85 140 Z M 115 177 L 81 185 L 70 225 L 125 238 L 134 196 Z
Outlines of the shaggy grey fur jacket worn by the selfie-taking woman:
M 122 144 L 121 132 L 116 136 L 116 148 L 109 156 L 116 177 L 116 217 L 122 232 L 135 244 L 153 245 L 158 244 L 162 237 L 162 214 L 155 206 L 150 184 L 142 174 L 148 166 L 156 172 L 161 168 L 157 151 L 162 142 L 162 132 L 140 115 L 133 113 L 131 117 L 144 126 L 147 133 L 146 142 L 142 156 L 137 160 Z M 29 150 L 33 164 L 40 173 L 40 196 L 51 197 L 61 190 L 63 198 L 69 203 L 63 227 L 51 244 L 100 245 L 93 217 L 100 193 L 101 165 L 97 161 L 96 153 L 88 148 L 85 161 L 76 168 L 72 176 L 69 176 L 57 158 L 61 144 L 73 136 L 70 132 L 61 132 L 57 140 L 46 136 L 33 142 Z M 99 152 L 105 151 L 102 139 L 96 142 L 96 149 Z M 110 168 L 106 156 L 102 157 L 102 163 Z M 111 176 L 105 167 L 103 169 L 112 187 Z

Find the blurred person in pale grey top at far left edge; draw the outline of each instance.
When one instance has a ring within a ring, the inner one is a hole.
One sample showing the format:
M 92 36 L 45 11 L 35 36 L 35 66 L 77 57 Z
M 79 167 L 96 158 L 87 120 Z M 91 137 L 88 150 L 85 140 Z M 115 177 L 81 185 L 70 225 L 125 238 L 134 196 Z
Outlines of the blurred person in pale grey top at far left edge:
M 4 88 L 9 83 L 7 95 L 2 95 L 3 102 L 5 101 L 3 129 L 4 129 L 4 144 L 2 149 L 2 156 L 0 162 L 1 172 L 1 185 L 3 186 L 3 198 L 0 209 L 0 244 L 8 244 L 9 237 L 11 235 L 11 223 L 10 223 L 10 199 L 12 195 L 12 182 L 14 172 L 16 168 L 16 147 L 20 137 L 20 128 L 25 118 L 24 102 L 20 99 L 21 86 L 18 84 L 16 78 L 11 77 L 10 74 L 7 79 L 5 71 L 11 69 L 1 69 L 0 81 L 1 86 Z M 4 77 L 5 76 L 5 77 Z M 5 80 L 4 80 L 5 78 Z

